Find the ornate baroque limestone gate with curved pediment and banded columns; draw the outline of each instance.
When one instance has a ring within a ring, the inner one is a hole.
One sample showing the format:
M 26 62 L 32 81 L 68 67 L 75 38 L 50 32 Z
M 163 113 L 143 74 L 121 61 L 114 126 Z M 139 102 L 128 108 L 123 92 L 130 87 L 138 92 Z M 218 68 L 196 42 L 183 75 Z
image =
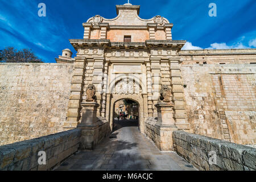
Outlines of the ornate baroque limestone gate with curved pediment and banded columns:
M 106 119 L 113 129 L 114 103 L 129 98 L 139 104 L 139 129 L 146 133 L 148 118 L 158 117 L 156 104 L 160 89 L 171 89 L 177 129 L 189 131 L 184 109 L 183 84 L 178 55 L 183 40 L 172 40 L 172 26 L 166 18 L 142 19 L 140 6 L 117 5 L 117 17 L 100 15 L 88 19 L 83 39 L 71 39 L 77 51 L 72 77 L 65 129 L 73 129 L 82 121 L 82 105 L 86 88 L 96 87 L 96 120 Z

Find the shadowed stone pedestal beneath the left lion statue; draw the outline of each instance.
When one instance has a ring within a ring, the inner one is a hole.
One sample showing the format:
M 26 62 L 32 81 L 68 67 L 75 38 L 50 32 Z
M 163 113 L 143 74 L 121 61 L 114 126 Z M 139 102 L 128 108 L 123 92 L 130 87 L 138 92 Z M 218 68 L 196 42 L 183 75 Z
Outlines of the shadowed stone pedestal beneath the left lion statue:
M 97 127 L 100 123 L 97 121 L 97 102 L 82 102 L 82 121 L 77 125 L 82 129 L 81 150 L 93 150 L 97 144 Z

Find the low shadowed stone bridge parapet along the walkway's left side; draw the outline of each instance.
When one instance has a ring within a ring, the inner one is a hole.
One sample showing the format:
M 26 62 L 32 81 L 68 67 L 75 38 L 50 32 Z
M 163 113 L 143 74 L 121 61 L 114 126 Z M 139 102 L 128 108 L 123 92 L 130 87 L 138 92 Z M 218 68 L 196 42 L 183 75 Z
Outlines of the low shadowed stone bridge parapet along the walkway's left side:
M 74 154 L 81 130 L 74 129 L 0 147 L 0 171 L 46 171 Z M 38 152 L 46 152 L 46 165 L 39 165 Z

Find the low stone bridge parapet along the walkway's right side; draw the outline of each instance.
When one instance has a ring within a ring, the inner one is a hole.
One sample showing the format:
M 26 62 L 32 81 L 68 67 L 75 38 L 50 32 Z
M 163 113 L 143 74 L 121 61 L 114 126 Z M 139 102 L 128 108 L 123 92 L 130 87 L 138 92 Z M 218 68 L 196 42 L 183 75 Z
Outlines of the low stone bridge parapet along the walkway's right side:
M 177 154 L 197 169 L 203 171 L 256 170 L 255 148 L 184 131 L 174 131 L 173 139 Z M 212 155 L 209 155 L 211 153 L 216 154 L 216 160 L 214 160 L 214 155 L 213 158 Z

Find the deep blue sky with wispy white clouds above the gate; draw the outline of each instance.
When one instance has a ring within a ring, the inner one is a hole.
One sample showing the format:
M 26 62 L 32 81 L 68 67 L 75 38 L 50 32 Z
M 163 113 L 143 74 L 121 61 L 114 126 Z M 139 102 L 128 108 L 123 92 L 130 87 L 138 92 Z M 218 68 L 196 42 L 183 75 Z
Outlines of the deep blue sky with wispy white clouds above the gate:
M 38 4 L 46 4 L 46 17 L 38 16 Z M 94 15 L 114 18 L 115 5 L 127 1 L 0 0 L 0 49 L 31 48 L 46 63 L 69 48 L 68 39 L 82 39 L 82 23 Z M 184 49 L 256 48 L 255 0 L 130 0 L 141 5 L 140 17 L 162 15 L 174 23 L 174 40 L 187 40 Z M 210 17 L 209 3 L 217 16 Z

